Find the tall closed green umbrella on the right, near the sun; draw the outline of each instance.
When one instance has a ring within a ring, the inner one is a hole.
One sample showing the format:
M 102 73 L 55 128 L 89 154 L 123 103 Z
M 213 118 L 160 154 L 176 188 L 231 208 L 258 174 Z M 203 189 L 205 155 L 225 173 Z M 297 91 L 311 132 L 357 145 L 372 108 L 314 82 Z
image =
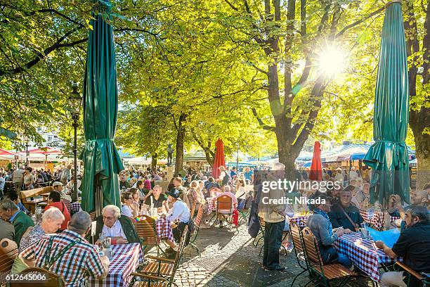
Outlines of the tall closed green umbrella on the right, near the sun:
M 408 64 L 400 1 L 386 4 L 376 91 L 373 138 L 364 162 L 372 167 L 370 202 L 386 205 L 391 194 L 409 202 Z

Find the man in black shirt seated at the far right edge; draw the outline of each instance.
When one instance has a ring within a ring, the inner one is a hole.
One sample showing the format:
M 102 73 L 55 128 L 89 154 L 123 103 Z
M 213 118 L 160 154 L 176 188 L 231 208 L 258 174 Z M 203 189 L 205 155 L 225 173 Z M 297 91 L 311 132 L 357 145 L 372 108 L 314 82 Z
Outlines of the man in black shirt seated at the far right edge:
M 415 272 L 430 272 L 430 222 L 429 212 L 424 206 L 412 206 L 405 213 L 406 229 L 400 234 L 393 248 L 389 248 L 382 241 L 377 241 L 377 248 L 384 250 L 392 258 L 403 257 L 403 262 Z M 400 272 L 385 272 L 381 276 L 379 286 L 406 287 L 403 281 L 406 274 Z M 415 277 L 411 277 L 411 279 Z M 411 282 L 410 286 L 419 286 L 418 282 Z

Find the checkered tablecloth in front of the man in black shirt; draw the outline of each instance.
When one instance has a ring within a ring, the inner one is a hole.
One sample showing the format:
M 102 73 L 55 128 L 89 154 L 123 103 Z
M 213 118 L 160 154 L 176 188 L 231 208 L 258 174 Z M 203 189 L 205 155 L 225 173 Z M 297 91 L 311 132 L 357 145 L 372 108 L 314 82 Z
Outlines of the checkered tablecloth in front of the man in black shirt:
M 379 281 L 379 264 L 396 262 L 395 259 L 376 248 L 371 240 L 361 238 L 358 232 L 344 234 L 334 242 L 334 247 L 339 253 L 348 256 L 373 281 Z

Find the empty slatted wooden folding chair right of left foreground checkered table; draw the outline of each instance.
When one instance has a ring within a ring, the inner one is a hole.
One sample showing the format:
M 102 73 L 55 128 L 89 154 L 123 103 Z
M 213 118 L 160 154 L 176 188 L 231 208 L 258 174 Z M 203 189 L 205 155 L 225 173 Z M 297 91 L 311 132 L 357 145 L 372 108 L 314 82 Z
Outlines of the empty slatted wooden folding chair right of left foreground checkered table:
M 179 241 L 178 252 L 176 252 L 175 259 L 169 259 L 164 257 L 155 257 L 155 256 L 146 256 L 146 258 L 150 259 L 150 262 L 143 267 L 141 272 L 133 272 L 131 273 L 134 279 L 136 277 L 140 277 L 142 279 L 146 279 L 146 281 L 136 282 L 134 286 L 138 287 L 146 287 L 146 286 L 171 286 L 172 284 L 177 286 L 174 283 L 174 276 L 176 270 L 179 267 L 179 262 L 181 261 L 181 256 L 183 253 L 183 249 L 185 248 L 185 238 L 188 234 L 188 225 L 183 229 L 183 234 L 181 236 L 181 240 Z

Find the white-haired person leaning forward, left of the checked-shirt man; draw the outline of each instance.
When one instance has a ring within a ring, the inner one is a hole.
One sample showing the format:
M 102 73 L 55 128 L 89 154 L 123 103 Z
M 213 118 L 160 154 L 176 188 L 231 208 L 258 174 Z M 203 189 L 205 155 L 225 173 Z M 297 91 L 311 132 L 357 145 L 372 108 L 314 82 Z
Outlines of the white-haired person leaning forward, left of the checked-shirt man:
M 36 224 L 34 227 L 29 227 L 22 235 L 18 252 L 21 253 L 28 246 L 37 243 L 45 234 L 56 233 L 60 229 L 61 224 L 63 224 L 63 221 L 64 215 L 58 208 L 51 207 L 46 210 L 42 215 L 41 223 Z M 27 268 L 27 265 L 22 262 L 20 257 L 15 257 L 11 273 L 18 274 L 25 268 Z

